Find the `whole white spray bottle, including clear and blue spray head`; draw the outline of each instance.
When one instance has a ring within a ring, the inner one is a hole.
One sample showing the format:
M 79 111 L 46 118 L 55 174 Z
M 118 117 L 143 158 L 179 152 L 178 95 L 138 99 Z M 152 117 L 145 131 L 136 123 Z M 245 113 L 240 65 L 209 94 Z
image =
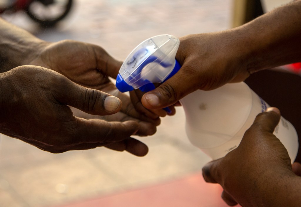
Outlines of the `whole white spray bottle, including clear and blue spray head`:
M 147 92 L 155 88 L 153 83 L 169 79 L 181 67 L 175 60 L 179 43 L 171 35 L 142 42 L 121 66 L 116 87 L 121 92 L 137 88 Z M 197 90 L 180 102 L 185 111 L 188 139 L 212 159 L 235 149 L 257 114 L 269 107 L 244 82 L 229 83 L 212 91 Z M 293 125 L 281 116 L 274 134 L 293 162 L 299 146 Z

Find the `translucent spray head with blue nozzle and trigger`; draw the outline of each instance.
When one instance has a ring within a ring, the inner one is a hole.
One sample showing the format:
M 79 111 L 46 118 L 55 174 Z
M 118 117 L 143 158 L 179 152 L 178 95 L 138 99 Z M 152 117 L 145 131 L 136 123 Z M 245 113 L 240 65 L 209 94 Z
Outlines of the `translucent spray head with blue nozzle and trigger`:
M 155 89 L 153 83 L 164 82 L 181 68 L 175 60 L 179 44 L 179 39 L 172 35 L 158 35 L 142 42 L 123 62 L 116 87 L 121 92 Z M 170 112 L 168 107 L 164 110 Z

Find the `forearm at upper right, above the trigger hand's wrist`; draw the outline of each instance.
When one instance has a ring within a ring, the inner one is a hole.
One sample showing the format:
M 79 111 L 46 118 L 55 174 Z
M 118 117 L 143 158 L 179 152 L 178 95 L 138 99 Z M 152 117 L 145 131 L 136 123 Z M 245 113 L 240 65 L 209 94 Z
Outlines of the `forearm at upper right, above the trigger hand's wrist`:
M 246 69 L 253 73 L 301 61 L 300 25 L 301 0 L 297 0 L 232 29 Z

